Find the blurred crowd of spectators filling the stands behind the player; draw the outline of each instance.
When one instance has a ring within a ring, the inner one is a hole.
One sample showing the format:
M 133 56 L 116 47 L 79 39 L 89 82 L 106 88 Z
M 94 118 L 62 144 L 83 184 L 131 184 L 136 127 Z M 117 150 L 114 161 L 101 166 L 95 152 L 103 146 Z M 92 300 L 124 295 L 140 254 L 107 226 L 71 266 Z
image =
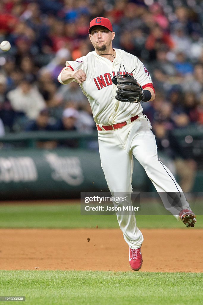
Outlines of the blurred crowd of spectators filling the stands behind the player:
M 143 61 L 156 99 L 143 103 L 152 126 L 203 124 L 203 2 L 201 0 L 2 0 L 0 135 L 5 132 L 95 129 L 79 85 L 61 85 L 66 60 L 93 50 L 88 28 L 104 16 L 114 48 Z

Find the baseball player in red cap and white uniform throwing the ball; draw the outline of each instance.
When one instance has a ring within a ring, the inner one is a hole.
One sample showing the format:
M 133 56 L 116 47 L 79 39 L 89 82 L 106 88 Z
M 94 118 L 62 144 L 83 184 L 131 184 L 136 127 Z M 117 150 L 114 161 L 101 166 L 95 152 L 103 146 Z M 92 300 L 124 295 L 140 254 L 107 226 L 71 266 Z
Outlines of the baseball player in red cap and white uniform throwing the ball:
M 136 56 L 112 48 L 114 37 L 109 19 L 93 19 L 89 38 L 95 51 L 66 61 L 58 81 L 78 82 L 89 100 L 98 130 L 101 167 L 110 192 L 132 192 L 134 155 L 158 192 L 181 194 L 183 207 L 174 216 L 187 227 L 194 227 L 195 215 L 173 174 L 159 161 L 151 124 L 142 113 L 141 102 L 155 99 L 150 74 Z M 117 214 L 117 220 L 129 246 L 131 268 L 138 271 L 142 266 L 143 236 L 135 214 Z

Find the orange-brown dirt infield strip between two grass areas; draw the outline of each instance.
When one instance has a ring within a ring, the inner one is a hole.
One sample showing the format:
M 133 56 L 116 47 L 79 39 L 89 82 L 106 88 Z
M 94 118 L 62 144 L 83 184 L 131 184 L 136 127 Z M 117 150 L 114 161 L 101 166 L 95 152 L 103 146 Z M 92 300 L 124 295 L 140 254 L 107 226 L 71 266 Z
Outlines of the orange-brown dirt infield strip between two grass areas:
M 203 272 L 203 230 L 142 229 L 142 233 L 142 271 Z M 1 270 L 131 270 L 121 231 L 99 228 L 0 229 L 0 266 Z

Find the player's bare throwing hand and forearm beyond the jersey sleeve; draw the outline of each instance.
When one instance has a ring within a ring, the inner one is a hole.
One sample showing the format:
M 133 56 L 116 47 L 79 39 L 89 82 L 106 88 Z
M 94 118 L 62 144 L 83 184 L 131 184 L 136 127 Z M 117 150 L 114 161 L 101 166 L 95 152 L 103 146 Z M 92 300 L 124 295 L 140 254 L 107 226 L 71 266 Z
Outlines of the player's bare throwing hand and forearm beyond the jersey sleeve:
M 61 80 L 64 84 L 69 84 L 73 80 L 77 81 L 79 84 L 82 84 L 82 82 L 86 80 L 86 74 L 83 70 L 73 71 L 70 68 L 63 70 L 59 76 L 61 79 L 58 77 L 58 81 L 60 82 Z

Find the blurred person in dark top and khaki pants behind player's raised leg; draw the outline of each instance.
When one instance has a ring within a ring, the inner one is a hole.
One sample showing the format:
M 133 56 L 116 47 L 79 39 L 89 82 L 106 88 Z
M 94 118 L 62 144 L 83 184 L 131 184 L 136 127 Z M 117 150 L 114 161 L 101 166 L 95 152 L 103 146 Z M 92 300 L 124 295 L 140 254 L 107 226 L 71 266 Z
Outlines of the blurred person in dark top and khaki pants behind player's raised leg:
M 196 176 L 196 162 L 188 156 L 162 120 L 154 121 L 153 131 L 160 160 L 163 160 L 174 175 L 178 175 L 184 192 L 192 192 Z M 187 197 L 187 195 L 186 195 Z

